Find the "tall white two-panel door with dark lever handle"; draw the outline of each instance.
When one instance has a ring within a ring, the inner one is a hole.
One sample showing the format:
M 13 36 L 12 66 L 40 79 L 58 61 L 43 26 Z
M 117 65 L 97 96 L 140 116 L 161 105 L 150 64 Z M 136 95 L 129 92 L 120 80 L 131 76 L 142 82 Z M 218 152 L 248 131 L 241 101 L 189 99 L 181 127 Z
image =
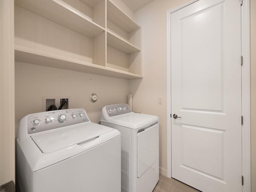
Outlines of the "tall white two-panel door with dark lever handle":
M 240 12 L 199 0 L 171 14 L 172 177 L 203 192 L 242 191 Z

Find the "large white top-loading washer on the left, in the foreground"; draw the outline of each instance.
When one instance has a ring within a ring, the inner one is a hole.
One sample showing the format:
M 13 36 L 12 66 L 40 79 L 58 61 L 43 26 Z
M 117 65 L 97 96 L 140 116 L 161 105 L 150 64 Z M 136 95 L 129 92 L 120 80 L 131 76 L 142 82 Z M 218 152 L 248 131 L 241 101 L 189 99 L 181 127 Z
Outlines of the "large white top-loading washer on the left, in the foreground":
M 17 138 L 23 192 L 120 192 L 121 136 L 84 109 L 29 114 Z

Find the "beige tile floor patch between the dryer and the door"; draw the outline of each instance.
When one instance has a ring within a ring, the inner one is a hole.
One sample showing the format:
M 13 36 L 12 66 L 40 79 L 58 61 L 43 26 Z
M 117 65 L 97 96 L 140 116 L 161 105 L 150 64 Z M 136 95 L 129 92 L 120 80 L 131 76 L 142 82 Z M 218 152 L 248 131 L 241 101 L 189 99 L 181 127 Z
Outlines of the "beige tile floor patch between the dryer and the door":
M 160 175 L 153 192 L 200 192 L 176 179 Z

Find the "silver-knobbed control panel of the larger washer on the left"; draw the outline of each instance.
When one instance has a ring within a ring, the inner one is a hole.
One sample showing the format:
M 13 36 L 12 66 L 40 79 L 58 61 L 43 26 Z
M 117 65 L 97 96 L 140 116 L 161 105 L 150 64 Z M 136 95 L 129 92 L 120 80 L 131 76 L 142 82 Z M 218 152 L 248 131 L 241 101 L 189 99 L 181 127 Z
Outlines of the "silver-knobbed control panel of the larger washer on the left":
M 88 122 L 84 109 L 46 111 L 28 115 L 28 134 Z

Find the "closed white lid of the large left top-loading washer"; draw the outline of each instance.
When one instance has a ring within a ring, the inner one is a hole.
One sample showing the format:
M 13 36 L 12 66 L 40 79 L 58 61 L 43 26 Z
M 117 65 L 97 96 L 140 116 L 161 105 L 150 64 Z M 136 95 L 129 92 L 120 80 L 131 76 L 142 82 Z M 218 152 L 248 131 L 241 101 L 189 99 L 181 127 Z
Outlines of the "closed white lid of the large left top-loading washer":
M 43 153 L 50 153 L 88 141 L 110 131 L 112 128 L 87 122 L 35 134 L 31 138 Z

